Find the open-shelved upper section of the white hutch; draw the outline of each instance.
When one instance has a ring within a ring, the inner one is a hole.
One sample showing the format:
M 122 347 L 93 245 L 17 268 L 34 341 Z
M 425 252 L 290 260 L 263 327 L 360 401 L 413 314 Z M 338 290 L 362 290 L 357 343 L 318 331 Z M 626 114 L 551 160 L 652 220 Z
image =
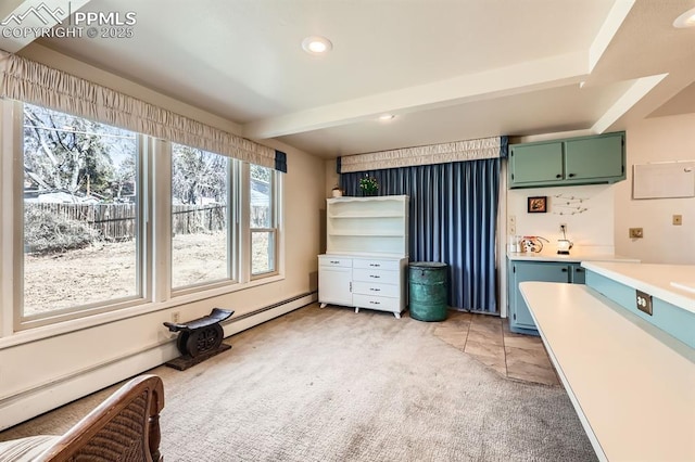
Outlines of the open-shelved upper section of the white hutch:
M 408 196 L 327 200 L 326 253 L 408 256 Z

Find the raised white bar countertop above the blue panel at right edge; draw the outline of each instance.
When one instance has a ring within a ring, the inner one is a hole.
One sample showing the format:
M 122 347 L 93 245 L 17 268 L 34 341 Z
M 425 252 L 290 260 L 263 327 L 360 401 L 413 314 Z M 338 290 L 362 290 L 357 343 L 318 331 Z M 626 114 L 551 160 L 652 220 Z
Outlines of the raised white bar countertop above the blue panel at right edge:
M 584 261 L 582 267 L 695 312 L 695 292 L 681 285 L 693 283 L 695 286 L 695 265 Z

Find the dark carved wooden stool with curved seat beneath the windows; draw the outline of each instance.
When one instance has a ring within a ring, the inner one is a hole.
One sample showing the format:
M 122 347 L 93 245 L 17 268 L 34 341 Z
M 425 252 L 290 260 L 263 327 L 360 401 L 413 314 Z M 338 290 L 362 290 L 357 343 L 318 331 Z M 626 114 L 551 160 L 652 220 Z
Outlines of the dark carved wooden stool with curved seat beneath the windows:
M 231 345 L 222 343 L 224 331 L 219 323 L 233 313 L 232 310 L 214 308 L 210 315 L 189 322 L 165 322 L 170 332 L 178 332 L 176 347 L 181 352 L 166 365 L 184 371 L 231 348 Z

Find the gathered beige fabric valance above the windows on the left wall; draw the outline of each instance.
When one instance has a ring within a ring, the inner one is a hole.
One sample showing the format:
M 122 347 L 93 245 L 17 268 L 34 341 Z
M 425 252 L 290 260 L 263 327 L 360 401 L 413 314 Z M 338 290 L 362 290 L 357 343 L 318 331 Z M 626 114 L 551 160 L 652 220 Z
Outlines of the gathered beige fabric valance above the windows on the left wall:
M 0 97 L 276 167 L 276 151 L 15 54 L 0 55 Z

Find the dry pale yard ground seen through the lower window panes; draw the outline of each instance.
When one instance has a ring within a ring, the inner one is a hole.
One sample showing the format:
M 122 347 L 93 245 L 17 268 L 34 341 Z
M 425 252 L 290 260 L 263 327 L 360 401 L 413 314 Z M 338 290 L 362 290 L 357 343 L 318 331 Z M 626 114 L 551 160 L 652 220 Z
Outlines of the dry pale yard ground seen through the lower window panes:
M 267 235 L 254 238 L 252 267 L 266 268 Z M 179 234 L 172 242 L 173 286 L 227 278 L 226 233 Z M 24 316 L 138 295 L 134 241 L 100 242 L 53 255 L 24 256 Z

